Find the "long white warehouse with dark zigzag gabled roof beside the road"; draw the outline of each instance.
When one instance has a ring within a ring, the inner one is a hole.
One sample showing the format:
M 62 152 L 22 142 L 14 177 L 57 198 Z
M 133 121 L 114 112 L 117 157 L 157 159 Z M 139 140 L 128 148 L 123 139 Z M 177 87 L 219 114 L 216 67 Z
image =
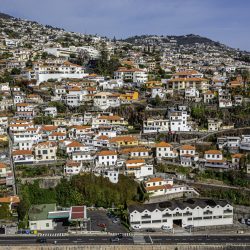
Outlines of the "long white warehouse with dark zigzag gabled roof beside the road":
M 132 228 L 173 229 L 233 224 L 233 207 L 226 200 L 190 198 L 128 207 Z

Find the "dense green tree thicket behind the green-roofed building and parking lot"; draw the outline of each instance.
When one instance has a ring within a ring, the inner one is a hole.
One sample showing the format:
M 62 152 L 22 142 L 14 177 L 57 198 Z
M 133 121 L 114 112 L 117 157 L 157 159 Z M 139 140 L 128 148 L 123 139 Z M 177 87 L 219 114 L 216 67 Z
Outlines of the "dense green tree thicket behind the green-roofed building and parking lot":
M 63 207 L 85 204 L 109 208 L 126 207 L 130 202 L 145 198 L 141 186 L 126 176 L 120 175 L 119 182 L 113 184 L 107 178 L 91 173 L 77 175 L 70 180 L 62 179 L 55 188 L 50 189 L 40 188 L 38 181 L 25 184 L 21 186 L 20 193 L 20 220 L 27 217 L 31 204 L 56 203 Z

